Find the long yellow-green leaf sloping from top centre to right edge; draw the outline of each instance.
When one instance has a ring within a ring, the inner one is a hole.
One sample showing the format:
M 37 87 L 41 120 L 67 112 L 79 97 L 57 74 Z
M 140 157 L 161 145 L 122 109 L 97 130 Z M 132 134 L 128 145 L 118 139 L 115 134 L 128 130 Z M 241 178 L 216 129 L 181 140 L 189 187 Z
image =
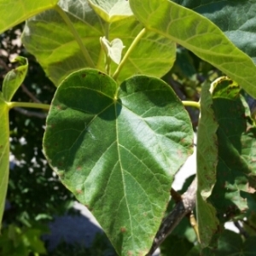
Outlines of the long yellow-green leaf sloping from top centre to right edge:
M 168 0 L 130 0 L 129 3 L 134 15 L 149 30 L 191 50 L 256 97 L 253 61 L 210 20 Z

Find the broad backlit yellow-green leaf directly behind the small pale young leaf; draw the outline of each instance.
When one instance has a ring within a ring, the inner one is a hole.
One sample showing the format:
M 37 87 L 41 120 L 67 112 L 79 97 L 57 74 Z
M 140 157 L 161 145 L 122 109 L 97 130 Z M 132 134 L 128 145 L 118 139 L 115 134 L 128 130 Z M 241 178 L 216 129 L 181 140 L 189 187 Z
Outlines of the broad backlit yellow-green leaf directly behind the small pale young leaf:
M 63 0 L 64 9 L 79 33 L 84 46 L 90 54 L 94 65 L 105 71 L 105 55 L 101 48 L 100 38 L 106 36 L 111 42 L 120 38 L 125 45 L 123 55 L 129 49 L 134 38 L 142 31 L 143 26 L 135 17 L 128 17 L 111 24 L 103 21 L 87 1 Z M 28 20 L 22 36 L 22 42 L 33 55 L 55 85 L 59 85 L 68 74 L 84 67 L 91 67 L 82 54 L 73 33 L 55 10 Z M 167 73 L 175 61 L 176 45 L 172 40 L 155 32 L 146 32 L 119 73 L 119 81 L 133 74 L 143 73 L 161 77 Z M 111 74 L 117 65 L 112 63 Z M 157 67 L 157 68 L 156 68 Z

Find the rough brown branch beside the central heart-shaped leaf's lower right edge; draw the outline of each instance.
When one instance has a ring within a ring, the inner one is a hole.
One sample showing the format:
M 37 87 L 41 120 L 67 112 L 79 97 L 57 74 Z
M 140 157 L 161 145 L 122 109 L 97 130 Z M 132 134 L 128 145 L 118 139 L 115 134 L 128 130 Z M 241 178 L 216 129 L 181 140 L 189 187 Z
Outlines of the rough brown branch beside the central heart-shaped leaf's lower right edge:
M 166 237 L 174 230 L 179 222 L 195 208 L 195 193 L 197 188 L 196 178 L 190 184 L 189 189 L 182 195 L 182 200 L 178 201 L 172 212 L 163 219 L 160 229 L 154 236 L 154 242 L 146 256 L 151 256 L 157 247 L 165 241 Z

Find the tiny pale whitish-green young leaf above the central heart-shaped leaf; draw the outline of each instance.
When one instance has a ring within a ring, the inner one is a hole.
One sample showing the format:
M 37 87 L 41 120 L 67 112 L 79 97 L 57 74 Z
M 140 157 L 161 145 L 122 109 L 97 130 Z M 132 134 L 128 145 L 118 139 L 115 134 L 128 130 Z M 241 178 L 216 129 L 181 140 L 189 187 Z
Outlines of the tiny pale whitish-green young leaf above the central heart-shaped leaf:
M 107 38 L 100 38 L 102 48 L 106 54 L 114 61 L 116 64 L 119 64 L 121 61 L 122 50 L 125 48 L 123 42 L 119 38 L 113 39 L 111 42 Z

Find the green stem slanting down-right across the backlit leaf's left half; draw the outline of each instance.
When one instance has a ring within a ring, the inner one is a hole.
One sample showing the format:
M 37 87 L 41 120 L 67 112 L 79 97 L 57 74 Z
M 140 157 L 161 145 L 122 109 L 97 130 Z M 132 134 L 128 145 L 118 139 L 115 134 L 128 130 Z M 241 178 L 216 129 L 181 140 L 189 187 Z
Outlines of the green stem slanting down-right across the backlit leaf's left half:
M 89 54 L 88 50 L 84 47 L 84 44 L 83 44 L 81 38 L 79 37 L 79 33 L 74 28 L 74 26 L 73 26 L 71 20 L 69 19 L 69 17 L 67 16 L 67 14 L 57 4 L 55 5 L 55 10 L 59 13 L 59 15 L 61 15 L 61 18 L 66 22 L 68 28 L 73 33 L 73 37 L 76 39 L 77 43 L 79 44 L 79 47 L 84 55 L 85 60 L 88 62 L 89 66 L 95 67 L 93 61 L 90 58 L 90 54 Z

